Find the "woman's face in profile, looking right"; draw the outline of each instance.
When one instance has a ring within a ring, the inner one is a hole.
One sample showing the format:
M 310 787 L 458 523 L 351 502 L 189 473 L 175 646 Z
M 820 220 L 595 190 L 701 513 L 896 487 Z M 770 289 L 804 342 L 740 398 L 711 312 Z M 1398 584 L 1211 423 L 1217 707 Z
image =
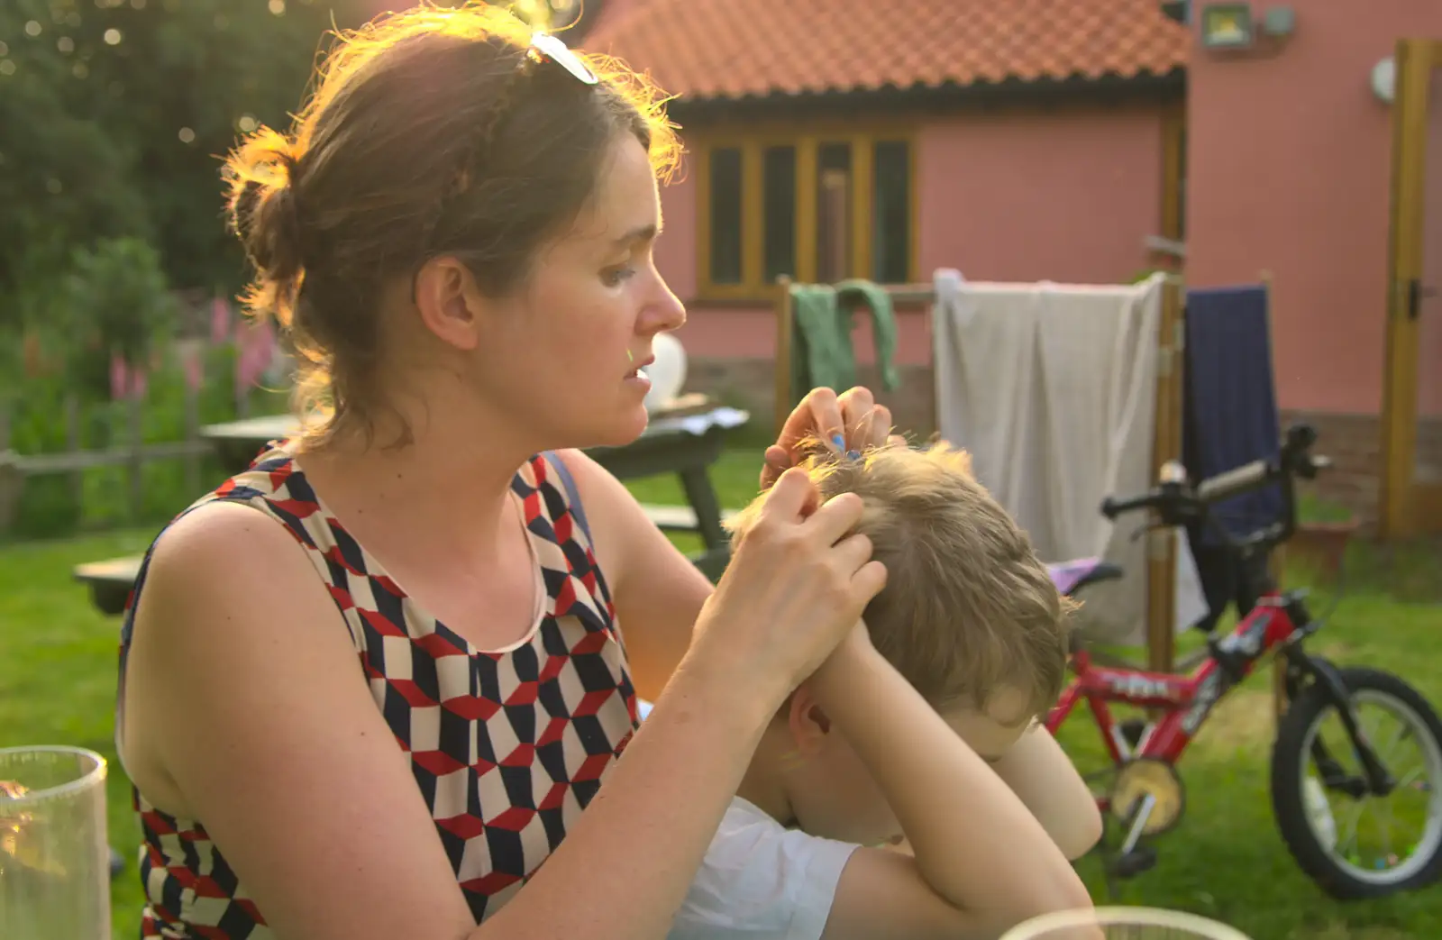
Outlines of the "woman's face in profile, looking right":
M 536 447 L 619 445 L 646 428 L 637 369 L 652 339 L 686 320 L 652 258 L 660 200 L 646 150 L 611 146 L 575 225 L 536 257 L 515 300 L 490 303 L 473 372 L 479 391 Z

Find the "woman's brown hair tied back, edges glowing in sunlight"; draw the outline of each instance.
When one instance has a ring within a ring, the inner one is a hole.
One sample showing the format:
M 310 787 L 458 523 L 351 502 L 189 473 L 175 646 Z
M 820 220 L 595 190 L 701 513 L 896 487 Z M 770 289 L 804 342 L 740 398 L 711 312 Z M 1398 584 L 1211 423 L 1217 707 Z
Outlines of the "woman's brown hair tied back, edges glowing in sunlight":
M 675 128 L 645 78 L 577 53 L 600 78 L 587 85 L 529 40 L 476 3 L 337 33 L 291 133 L 262 127 L 226 160 L 231 223 L 255 267 L 244 301 L 293 349 L 297 408 L 329 412 L 316 434 L 373 430 L 385 284 L 451 255 L 505 296 L 581 212 L 619 134 L 658 176 L 673 169 Z

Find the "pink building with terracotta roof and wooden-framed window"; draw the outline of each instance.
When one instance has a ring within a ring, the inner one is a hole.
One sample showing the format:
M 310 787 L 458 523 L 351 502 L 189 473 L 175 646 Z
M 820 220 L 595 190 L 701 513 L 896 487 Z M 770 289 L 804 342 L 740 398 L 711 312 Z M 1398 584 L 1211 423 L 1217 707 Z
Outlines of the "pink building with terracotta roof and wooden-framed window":
M 1191 285 L 1270 278 L 1280 405 L 1322 425 L 1332 495 L 1370 516 L 1392 108 L 1368 76 L 1399 37 L 1442 36 L 1442 3 L 1224 6 L 1250 48 L 1204 48 L 1206 0 L 609 0 L 584 45 L 679 95 L 659 258 L 699 383 L 770 414 L 777 274 L 1105 283 L 1180 238 Z M 891 404 L 926 428 L 924 311 L 900 322 Z M 1442 329 L 1419 342 L 1417 407 L 1442 417 Z

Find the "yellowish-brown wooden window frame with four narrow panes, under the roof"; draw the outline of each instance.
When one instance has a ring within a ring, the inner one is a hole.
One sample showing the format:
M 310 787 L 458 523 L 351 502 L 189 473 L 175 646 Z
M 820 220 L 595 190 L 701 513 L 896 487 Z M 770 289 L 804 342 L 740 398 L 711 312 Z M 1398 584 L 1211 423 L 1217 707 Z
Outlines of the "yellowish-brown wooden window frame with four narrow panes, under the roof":
M 877 143 L 901 141 L 907 146 L 907 281 L 917 280 L 920 231 L 920 192 L 917 185 L 917 134 L 910 125 L 813 125 L 797 133 L 795 127 L 707 128 L 689 136 L 686 150 L 695 157 L 696 179 L 696 298 L 720 301 L 770 303 L 776 285 L 766 283 L 766 187 L 763 185 L 767 147 L 796 148 L 796 272 L 793 281 L 816 280 L 816 153 L 823 143 L 851 144 L 851 270 L 858 277 L 872 271 L 874 169 Z M 711 280 L 711 151 L 735 147 L 741 151 L 741 283 L 715 284 Z

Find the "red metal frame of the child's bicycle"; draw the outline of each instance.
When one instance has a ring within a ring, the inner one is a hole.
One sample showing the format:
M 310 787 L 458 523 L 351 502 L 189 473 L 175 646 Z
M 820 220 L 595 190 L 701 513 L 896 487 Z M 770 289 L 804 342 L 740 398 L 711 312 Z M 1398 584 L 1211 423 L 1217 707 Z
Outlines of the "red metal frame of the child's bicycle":
M 1084 699 L 1113 763 L 1145 757 L 1174 764 L 1223 695 L 1246 679 L 1268 653 L 1299 634 L 1291 608 L 1292 600 L 1269 587 L 1230 634 L 1210 642 L 1211 656 L 1190 675 L 1096 666 L 1092 655 L 1080 649 L 1071 657 L 1076 678 L 1047 715 L 1047 730 L 1056 734 Z M 1115 704 L 1165 714 L 1148 725 L 1132 747 L 1112 717 L 1110 705 Z

